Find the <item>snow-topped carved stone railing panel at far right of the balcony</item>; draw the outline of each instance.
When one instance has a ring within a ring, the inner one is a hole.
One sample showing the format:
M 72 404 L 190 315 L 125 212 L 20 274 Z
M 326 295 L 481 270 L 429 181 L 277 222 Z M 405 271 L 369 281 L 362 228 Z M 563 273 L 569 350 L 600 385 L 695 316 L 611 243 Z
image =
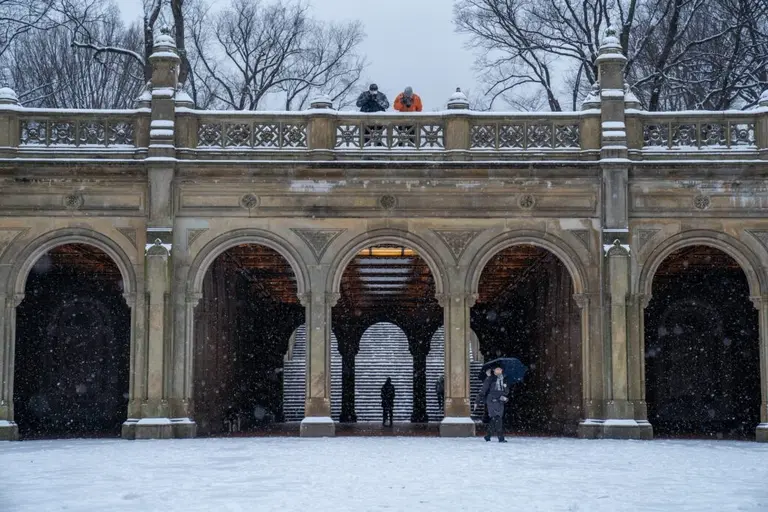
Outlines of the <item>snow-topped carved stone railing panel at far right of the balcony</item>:
M 637 131 L 630 135 L 630 147 L 643 152 L 757 150 L 758 114 L 756 111 L 722 112 L 640 112 L 635 118 Z

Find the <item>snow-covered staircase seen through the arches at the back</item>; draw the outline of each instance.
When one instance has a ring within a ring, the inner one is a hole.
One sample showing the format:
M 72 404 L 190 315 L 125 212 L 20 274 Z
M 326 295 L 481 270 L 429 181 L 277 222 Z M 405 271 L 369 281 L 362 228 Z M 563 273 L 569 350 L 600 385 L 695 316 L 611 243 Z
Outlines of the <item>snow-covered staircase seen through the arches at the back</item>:
M 294 333 L 293 350 L 286 358 L 283 376 L 283 410 L 285 421 L 304 418 L 306 380 L 306 327 Z M 432 338 L 427 356 L 427 414 L 430 421 L 440 421 L 443 411 L 438 407 L 435 383 L 443 374 L 445 364 L 445 332 L 441 327 Z M 477 365 L 475 365 L 477 366 Z M 477 369 L 473 369 L 474 374 Z M 394 421 L 407 422 L 413 412 L 413 357 L 408 350 L 405 334 L 390 323 L 371 326 L 360 340 L 360 351 L 355 358 L 355 412 L 358 421 L 382 419 L 381 386 L 392 378 L 396 398 Z M 470 379 L 470 382 L 476 379 Z M 479 389 L 475 384 L 474 393 Z M 473 395 L 474 396 L 474 395 Z M 341 355 L 336 337 L 331 336 L 331 416 L 339 419 L 341 413 Z

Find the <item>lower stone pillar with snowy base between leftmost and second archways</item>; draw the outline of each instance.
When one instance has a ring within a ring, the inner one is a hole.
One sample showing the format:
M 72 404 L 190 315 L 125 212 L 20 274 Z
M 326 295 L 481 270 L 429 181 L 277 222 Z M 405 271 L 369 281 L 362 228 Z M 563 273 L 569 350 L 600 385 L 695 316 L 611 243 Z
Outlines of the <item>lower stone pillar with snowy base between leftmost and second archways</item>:
M 128 439 L 168 439 L 173 437 L 166 392 L 166 340 L 169 308 L 170 276 L 169 253 L 157 239 L 147 249 L 145 260 L 147 332 L 144 343 L 139 343 L 143 364 L 135 371 L 140 386 L 134 396 L 140 400 L 139 418 L 123 424 L 123 437 Z M 137 354 L 137 356 L 140 356 Z M 134 397 L 132 397 L 134 398 Z

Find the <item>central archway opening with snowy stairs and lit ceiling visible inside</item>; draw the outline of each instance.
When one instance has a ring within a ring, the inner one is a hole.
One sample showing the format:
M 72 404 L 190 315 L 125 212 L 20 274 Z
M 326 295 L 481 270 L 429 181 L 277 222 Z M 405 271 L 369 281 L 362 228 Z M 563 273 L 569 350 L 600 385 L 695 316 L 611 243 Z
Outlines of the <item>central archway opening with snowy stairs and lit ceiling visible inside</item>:
M 333 411 L 338 412 L 340 421 L 355 422 L 358 415 L 362 420 L 380 421 L 381 400 L 374 396 L 374 388 L 380 388 L 387 377 L 396 385 L 409 383 L 400 385 L 396 420 L 424 423 L 442 418 L 441 408 L 433 407 L 432 415 L 428 413 L 427 395 L 430 372 L 442 373 L 434 364 L 427 364 L 433 337 L 443 323 L 435 290 L 429 264 L 405 246 L 372 245 L 360 250 L 346 266 L 341 275 L 341 296 L 332 311 L 341 374 L 332 374 L 332 381 L 338 383 L 336 389 L 341 391 L 341 403 L 334 403 Z M 365 336 L 370 338 L 365 340 L 370 353 L 365 361 L 360 359 L 366 369 L 361 375 L 364 381 L 358 382 L 356 361 Z M 437 350 L 444 354 L 443 345 Z M 386 352 L 379 364 L 376 351 Z M 438 375 L 431 377 L 436 380 Z

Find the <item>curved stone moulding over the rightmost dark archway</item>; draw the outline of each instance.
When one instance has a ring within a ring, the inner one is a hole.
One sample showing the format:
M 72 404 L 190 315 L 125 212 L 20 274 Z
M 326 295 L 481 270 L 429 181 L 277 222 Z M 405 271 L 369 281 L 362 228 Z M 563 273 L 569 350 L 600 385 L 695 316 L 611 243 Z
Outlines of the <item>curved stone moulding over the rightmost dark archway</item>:
M 756 270 L 760 268 L 760 260 L 743 242 L 726 233 L 695 230 L 685 231 L 667 238 L 648 255 L 640 269 L 637 287 L 638 292 L 645 297 L 646 304 L 653 295 L 653 278 L 664 260 L 676 250 L 694 245 L 713 247 L 733 258 L 747 278 L 750 296 L 760 297 L 763 295 L 761 290 L 765 289 L 765 283 L 760 272 Z

